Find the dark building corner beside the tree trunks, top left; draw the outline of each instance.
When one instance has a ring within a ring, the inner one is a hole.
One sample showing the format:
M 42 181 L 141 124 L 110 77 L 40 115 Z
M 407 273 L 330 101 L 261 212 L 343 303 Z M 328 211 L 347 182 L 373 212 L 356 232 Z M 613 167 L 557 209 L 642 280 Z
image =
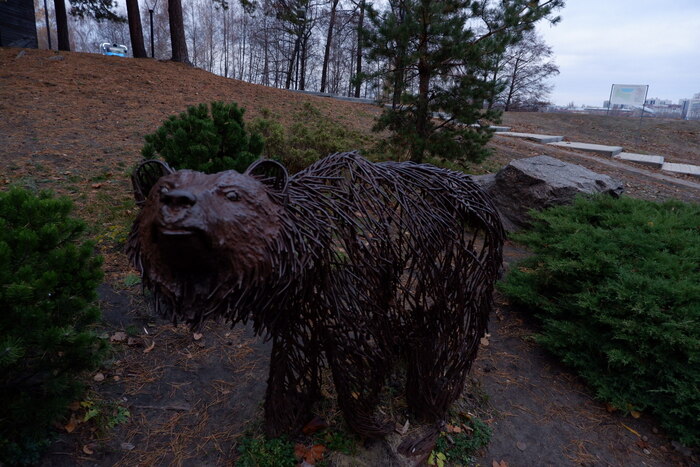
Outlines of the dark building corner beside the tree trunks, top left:
M 33 1 L 0 0 L 0 47 L 38 47 Z

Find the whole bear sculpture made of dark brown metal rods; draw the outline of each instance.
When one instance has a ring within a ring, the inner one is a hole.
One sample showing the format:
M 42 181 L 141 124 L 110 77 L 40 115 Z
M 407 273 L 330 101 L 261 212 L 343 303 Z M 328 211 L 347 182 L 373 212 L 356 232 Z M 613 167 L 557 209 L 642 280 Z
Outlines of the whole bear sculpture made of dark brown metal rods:
M 160 312 L 195 327 L 252 320 L 271 336 L 269 434 L 308 421 L 326 364 L 362 435 L 394 426 L 375 409 L 399 359 L 411 409 L 445 415 L 486 328 L 503 243 L 467 175 L 356 153 L 290 178 L 273 161 L 245 174 L 168 172 L 158 162 L 135 172 L 143 207 L 130 258 Z

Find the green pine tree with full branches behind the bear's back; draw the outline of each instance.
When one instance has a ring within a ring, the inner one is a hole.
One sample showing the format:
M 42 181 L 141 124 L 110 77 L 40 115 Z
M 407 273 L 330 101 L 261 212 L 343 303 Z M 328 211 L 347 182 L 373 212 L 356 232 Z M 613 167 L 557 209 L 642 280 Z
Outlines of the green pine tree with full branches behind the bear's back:
M 484 102 L 502 89 L 487 79 L 492 61 L 523 31 L 552 13 L 563 0 L 390 0 L 383 13 L 369 11 L 365 31 L 369 59 L 385 63 L 385 95 L 392 107 L 375 129 L 421 162 L 426 154 L 480 161 L 491 132 L 480 120 L 498 121 Z M 433 119 L 440 114 L 443 121 Z

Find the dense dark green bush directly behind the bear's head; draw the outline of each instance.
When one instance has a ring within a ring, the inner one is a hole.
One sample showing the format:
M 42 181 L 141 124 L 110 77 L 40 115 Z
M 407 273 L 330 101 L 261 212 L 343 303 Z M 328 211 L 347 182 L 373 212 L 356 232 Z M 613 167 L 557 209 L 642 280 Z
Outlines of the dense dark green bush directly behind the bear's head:
M 244 112 L 235 102 L 190 106 L 146 135 L 141 154 L 146 159 L 160 156 L 176 169 L 243 172 L 264 146 L 258 133 L 246 131 Z

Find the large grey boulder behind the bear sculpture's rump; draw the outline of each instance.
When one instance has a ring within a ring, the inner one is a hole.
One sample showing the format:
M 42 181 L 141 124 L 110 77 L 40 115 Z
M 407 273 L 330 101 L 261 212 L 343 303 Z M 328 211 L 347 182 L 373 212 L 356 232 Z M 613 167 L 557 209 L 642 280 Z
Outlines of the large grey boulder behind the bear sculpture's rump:
M 569 204 L 581 193 L 618 197 L 622 183 L 550 156 L 511 161 L 497 174 L 472 177 L 493 198 L 508 231 L 527 227 L 528 211 Z

